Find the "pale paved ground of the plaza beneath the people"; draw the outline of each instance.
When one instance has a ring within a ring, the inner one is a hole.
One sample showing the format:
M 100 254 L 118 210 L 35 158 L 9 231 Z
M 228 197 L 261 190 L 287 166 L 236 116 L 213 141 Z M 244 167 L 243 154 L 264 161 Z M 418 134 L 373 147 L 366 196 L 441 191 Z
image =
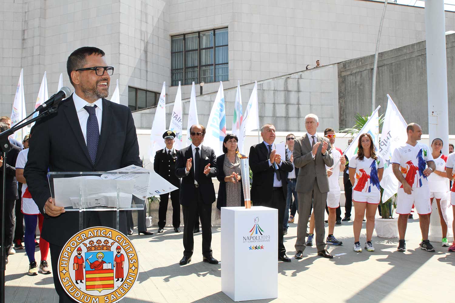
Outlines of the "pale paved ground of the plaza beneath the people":
M 344 223 L 344 222 L 343 222 Z M 291 257 L 297 233 L 290 224 L 285 246 Z M 156 232 L 157 228 L 152 228 Z M 213 227 L 213 256 L 221 259 L 220 228 Z M 364 243 L 364 232 L 361 243 Z M 168 228 L 152 236 L 132 236 L 139 253 L 142 273 L 124 303 L 233 302 L 221 292 L 221 264 L 202 262 L 201 233 L 195 236 L 192 263 L 179 266 L 182 235 Z M 419 248 L 417 219 L 409 220 L 406 253 L 396 252 L 398 239 L 376 237 L 374 253 L 354 253 L 352 222 L 335 228 L 343 241 L 329 247 L 334 259 L 319 258 L 316 248 L 307 248 L 305 258 L 278 264 L 278 298 L 251 302 L 449 302 L 455 293 L 455 253 L 433 243 L 435 253 Z M 345 253 L 345 254 L 343 254 Z M 39 250 L 36 250 L 39 258 Z M 6 268 L 6 302 L 58 302 L 52 275 L 26 275 L 25 251 L 10 255 Z M 220 260 L 222 261 L 222 260 Z

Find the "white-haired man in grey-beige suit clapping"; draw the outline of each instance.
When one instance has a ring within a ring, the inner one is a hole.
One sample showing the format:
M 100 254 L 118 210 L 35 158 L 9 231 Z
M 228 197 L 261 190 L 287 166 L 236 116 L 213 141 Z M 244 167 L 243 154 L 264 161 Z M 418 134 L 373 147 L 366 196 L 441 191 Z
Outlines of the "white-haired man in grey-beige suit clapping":
M 329 167 L 334 165 L 334 159 L 329 153 L 331 149 L 329 139 L 316 133 L 318 126 L 318 116 L 307 114 L 305 117 L 307 133 L 303 137 L 297 138 L 294 144 L 294 165 L 299 168 L 295 187 L 299 202 L 297 241 L 295 243 L 297 253 L 294 256 L 296 259 L 303 258 L 308 216 L 311 213 L 312 204 L 318 256 L 333 258 L 325 249 L 324 212 L 329 192 L 329 178 L 325 165 Z

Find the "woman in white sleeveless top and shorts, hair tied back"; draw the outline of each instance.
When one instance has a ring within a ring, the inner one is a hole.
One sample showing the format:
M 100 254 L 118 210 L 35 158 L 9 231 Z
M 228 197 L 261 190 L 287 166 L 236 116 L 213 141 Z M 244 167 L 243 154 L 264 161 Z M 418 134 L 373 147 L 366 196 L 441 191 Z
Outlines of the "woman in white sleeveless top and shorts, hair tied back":
M 449 180 L 445 173 L 447 156 L 441 154 L 442 145 L 442 139 L 440 138 L 433 139 L 433 142 L 431 143 L 431 156 L 435 160 L 436 169 L 433 174 L 428 176 L 428 187 L 430 187 L 431 204 L 433 204 L 433 199 L 436 199 L 436 203 L 438 204 L 438 213 L 442 229 L 442 246 L 449 246 L 449 241 L 447 240 L 447 223 L 444 219 L 447 207 L 441 207 L 441 200 L 445 203 L 449 191 Z

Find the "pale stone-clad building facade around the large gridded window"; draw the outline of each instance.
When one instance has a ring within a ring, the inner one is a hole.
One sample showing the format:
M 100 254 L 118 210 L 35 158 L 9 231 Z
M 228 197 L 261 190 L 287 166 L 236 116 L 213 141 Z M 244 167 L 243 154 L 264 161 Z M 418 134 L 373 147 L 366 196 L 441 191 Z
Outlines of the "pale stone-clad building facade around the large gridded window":
M 227 28 L 228 79 L 223 85 L 230 88 L 238 80 L 248 84 L 305 70 L 318 59 L 330 65 L 374 53 L 382 8 L 380 1 L 365 0 L 4 0 L 0 112 L 10 115 L 20 68 L 28 112 L 44 71 L 50 93 L 61 73 L 69 86 L 66 58 L 80 46 L 106 51 L 106 61 L 115 67 L 111 93 L 119 79 L 122 104 L 135 89 L 159 94 L 164 81 L 169 103 L 177 90 L 169 86 L 176 35 Z M 454 28 L 453 14 L 446 12 L 447 30 Z M 422 8 L 388 6 L 380 50 L 424 39 Z M 204 93 L 218 85 L 206 83 Z M 190 90 L 191 85 L 183 85 L 182 97 L 189 97 Z

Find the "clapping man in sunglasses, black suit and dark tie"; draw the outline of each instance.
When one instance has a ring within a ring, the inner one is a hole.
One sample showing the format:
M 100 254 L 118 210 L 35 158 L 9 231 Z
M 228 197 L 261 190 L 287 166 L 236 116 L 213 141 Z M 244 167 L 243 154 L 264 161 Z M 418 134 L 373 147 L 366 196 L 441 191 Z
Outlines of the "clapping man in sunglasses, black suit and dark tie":
M 191 262 L 194 240 L 193 227 L 197 213 L 202 226 L 202 260 L 218 264 L 212 257 L 212 203 L 215 202 L 215 188 L 212 177 L 216 177 L 217 157 L 213 149 L 202 145 L 205 127 L 195 124 L 190 127 L 192 144 L 177 152 L 175 174 L 182 178 L 180 204 L 183 212 L 183 258 L 180 265 Z

